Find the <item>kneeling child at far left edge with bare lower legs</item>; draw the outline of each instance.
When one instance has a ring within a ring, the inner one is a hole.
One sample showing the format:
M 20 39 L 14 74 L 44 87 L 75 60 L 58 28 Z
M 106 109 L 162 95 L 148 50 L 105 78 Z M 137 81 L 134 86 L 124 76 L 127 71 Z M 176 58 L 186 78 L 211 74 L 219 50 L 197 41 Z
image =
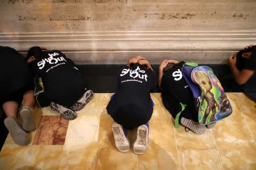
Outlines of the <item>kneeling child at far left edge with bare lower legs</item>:
M 32 116 L 35 103 L 32 73 L 21 54 L 8 46 L 0 46 L 0 75 L 0 104 L 7 117 L 4 124 L 16 144 L 28 145 L 27 132 L 36 129 Z M 17 119 L 20 104 L 23 105 L 19 112 L 22 124 Z

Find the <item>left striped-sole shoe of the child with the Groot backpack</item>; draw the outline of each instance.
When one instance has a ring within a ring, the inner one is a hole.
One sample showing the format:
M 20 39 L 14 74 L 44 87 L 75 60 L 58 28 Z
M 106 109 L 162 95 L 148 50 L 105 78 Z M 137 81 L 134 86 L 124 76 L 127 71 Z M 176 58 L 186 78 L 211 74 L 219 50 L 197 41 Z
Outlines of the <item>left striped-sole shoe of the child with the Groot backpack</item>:
M 181 125 L 185 126 L 196 134 L 203 134 L 207 129 L 205 125 L 201 125 L 199 124 L 199 122 L 195 122 L 184 117 L 181 117 L 180 123 Z

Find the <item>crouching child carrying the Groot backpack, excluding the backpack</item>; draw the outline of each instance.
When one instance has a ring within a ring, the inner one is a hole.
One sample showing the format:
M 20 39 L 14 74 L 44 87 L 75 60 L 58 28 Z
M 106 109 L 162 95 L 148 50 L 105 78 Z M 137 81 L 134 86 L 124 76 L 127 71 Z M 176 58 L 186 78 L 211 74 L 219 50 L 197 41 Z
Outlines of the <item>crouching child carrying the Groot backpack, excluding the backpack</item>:
M 206 126 L 199 124 L 192 91 L 181 73 L 184 63 L 172 59 L 166 59 L 160 63 L 158 84 L 163 104 L 172 117 L 179 119 L 177 121 L 185 127 L 186 131 L 188 128 L 196 134 L 203 134 L 207 128 L 213 128 L 216 123 Z

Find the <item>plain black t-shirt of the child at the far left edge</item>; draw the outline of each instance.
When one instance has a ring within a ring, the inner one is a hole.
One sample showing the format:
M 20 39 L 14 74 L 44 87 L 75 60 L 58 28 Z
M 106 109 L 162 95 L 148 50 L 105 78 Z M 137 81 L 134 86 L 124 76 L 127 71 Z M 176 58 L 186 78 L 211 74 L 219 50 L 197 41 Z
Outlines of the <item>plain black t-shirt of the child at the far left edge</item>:
M 0 46 L 0 75 L 1 99 L 32 80 L 31 70 L 23 56 L 9 46 Z

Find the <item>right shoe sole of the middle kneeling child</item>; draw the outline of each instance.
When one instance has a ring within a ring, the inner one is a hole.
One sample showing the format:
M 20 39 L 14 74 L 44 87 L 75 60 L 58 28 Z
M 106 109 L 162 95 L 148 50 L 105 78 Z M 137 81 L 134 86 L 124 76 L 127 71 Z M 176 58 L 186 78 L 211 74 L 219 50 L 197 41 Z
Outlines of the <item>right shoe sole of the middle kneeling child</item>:
M 141 125 L 137 129 L 137 139 L 133 145 L 133 151 L 137 155 L 144 154 L 147 149 L 148 129 L 148 124 Z

